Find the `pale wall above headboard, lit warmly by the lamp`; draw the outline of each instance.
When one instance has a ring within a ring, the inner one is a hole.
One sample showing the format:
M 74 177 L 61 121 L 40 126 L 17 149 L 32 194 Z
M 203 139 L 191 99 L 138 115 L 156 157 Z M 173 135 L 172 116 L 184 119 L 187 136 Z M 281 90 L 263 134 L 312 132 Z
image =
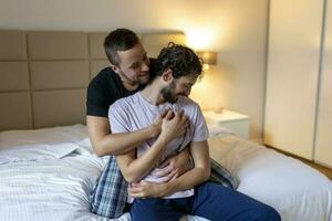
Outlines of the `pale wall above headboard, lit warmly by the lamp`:
M 0 0 L 0 29 L 185 31 L 218 52 L 193 97 L 249 115 L 251 138 L 262 136 L 267 23 L 268 0 Z

